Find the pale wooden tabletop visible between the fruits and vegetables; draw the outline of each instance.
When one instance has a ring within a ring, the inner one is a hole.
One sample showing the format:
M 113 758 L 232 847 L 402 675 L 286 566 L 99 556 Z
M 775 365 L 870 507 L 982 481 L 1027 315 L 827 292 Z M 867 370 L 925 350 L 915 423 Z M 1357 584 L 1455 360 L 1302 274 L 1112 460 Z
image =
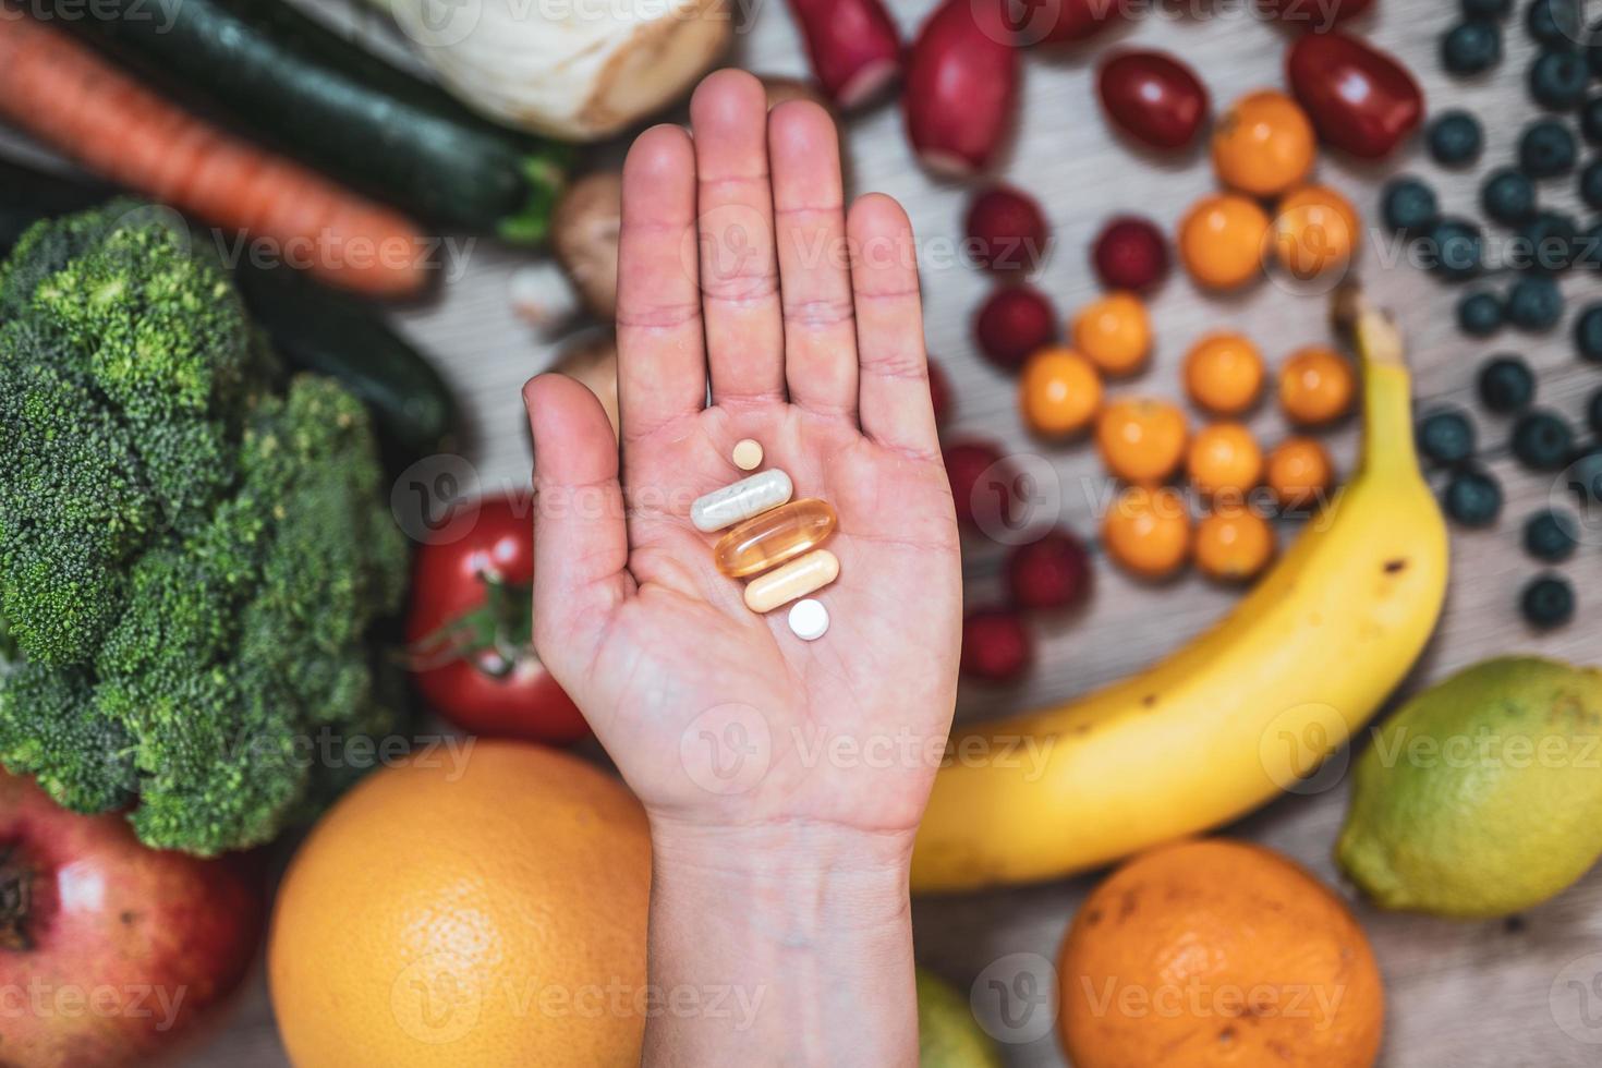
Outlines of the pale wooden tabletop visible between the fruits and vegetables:
M 1139 8 L 1157 3 L 1131 0 Z M 739 6 L 742 34 L 734 61 L 764 74 L 803 75 L 795 32 L 779 3 L 747 0 Z M 931 0 L 892 2 L 910 32 L 932 6 Z M 1024 62 L 1024 102 L 1014 147 L 1001 175 L 1032 191 L 1045 207 L 1056 237 L 1054 255 L 1038 283 L 1064 314 L 1091 299 L 1096 282 L 1086 267 L 1086 245 L 1115 211 L 1141 211 L 1171 227 L 1185 207 L 1213 187 L 1203 154 L 1157 160 L 1115 141 L 1093 94 L 1094 51 L 1118 43 L 1157 46 L 1184 56 L 1206 82 L 1216 107 L 1258 86 L 1283 83 L 1286 38 L 1274 26 L 1251 18 L 1243 0 L 1189 0 L 1200 14 L 1149 11 L 1134 24 L 1110 30 L 1096 48 L 1059 56 L 1032 53 Z M 1458 10 L 1453 0 L 1379 0 L 1378 18 L 1358 26 L 1379 45 L 1403 56 L 1424 82 L 1432 109 L 1466 106 L 1487 125 L 1488 162 L 1511 160 L 1519 126 L 1533 117 L 1524 90 L 1532 54 L 1517 24 L 1506 34 L 1507 58 L 1495 77 L 1472 85 L 1450 82 L 1437 62 L 1437 38 Z M 1211 14 L 1210 14 L 1211 11 Z M 370 18 L 370 16 L 368 16 Z M 928 178 L 913 162 L 894 106 L 854 117 L 847 130 L 852 187 L 899 197 L 912 215 L 921 242 L 928 336 L 955 387 L 958 416 L 952 437 L 963 434 L 1000 440 L 1011 450 L 1038 455 L 1062 479 L 1064 522 L 1086 532 L 1097 500 L 1081 485 L 1097 487 L 1099 463 L 1086 447 L 1043 450 L 1022 431 L 1014 407 L 1014 383 L 974 352 L 968 323 L 985 293 L 985 280 L 971 267 L 952 263 L 960 237 L 966 191 Z M 1378 181 L 1392 168 L 1427 175 L 1450 210 L 1475 213 L 1477 178 L 1435 168 L 1415 146 L 1386 170 L 1368 170 L 1326 157 L 1320 176 L 1365 211 L 1376 202 Z M 1572 183 L 1549 191 L 1548 203 L 1580 210 Z M 1400 315 L 1411 343 L 1419 404 L 1453 402 L 1472 407 L 1472 378 L 1479 362 L 1495 351 L 1524 354 L 1540 371 L 1540 399 L 1576 423 L 1584 397 L 1602 386 L 1602 373 L 1573 357 L 1567 322 L 1551 336 L 1533 339 L 1504 333 L 1493 341 L 1466 339 L 1453 327 L 1455 293 L 1399 258 L 1399 248 L 1379 231 L 1370 232 L 1362 275 L 1370 290 Z M 517 389 L 546 367 L 557 346 L 535 335 L 509 309 L 508 280 L 525 256 L 479 247 L 466 272 L 428 307 L 405 311 L 396 320 L 437 360 L 460 392 L 473 424 L 471 458 L 484 484 L 524 485 L 529 447 Z M 1596 275 L 1564 280 L 1572 306 L 1602 299 Z M 1174 277 L 1153 303 L 1158 333 L 1153 367 L 1117 392 L 1142 391 L 1179 395 L 1177 362 L 1195 336 L 1208 328 L 1238 327 L 1250 333 L 1272 362 L 1293 347 L 1325 341 L 1323 303 L 1274 283 L 1221 299 Z M 1501 445 L 1507 423 L 1475 412 L 1482 439 Z M 1272 405 L 1253 420 L 1262 440 L 1285 434 Z M 1350 463 L 1354 429 L 1330 437 L 1342 468 Z M 1410 685 L 1493 653 L 1544 652 L 1572 660 L 1597 658 L 1602 634 L 1602 524 L 1589 544 L 1564 565 L 1580 592 L 1576 621 L 1552 634 L 1525 628 L 1515 596 L 1536 565 L 1519 549 L 1524 516 L 1541 506 L 1551 479 L 1498 460 L 1493 469 L 1507 488 L 1507 508 L 1493 530 L 1453 535 L 1453 584 L 1445 618 Z M 1597 517 L 1602 520 L 1602 517 Z M 968 594 L 982 604 L 998 594 L 996 552 L 971 546 L 966 559 Z M 1088 612 L 1040 632 L 1040 668 L 1011 689 L 964 687 L 958 714 L 982 717 L 1056 701 L 1141 669 L 1185 642 L 1234 602 L 1235 594 L 1185 576 L 1163 588 L 1137 586 L 1110 567 L 1097 567 L 1096 596 Z M 1347 754 L 1334 757 L 1341 767 Z M 1330 860 L 1346 809 L 1344 777 L 1330 777 L 1326 789 L 1288 796 L 1227 828 L 1229 834 L 1272 845 L 1339 885 Z M 1020 813 L 1027 818 L 1027 813 Z M 1062 932 L 1094 879 L 1073 879 L 1020 890 L 979 893 L 915 903 L 920 959 L 968 990 L 985 978 L 1011 982 L 1017 970 L 1040 970 L 1056 954 Z M 1350 895 L 1349 887 L 1342 892 Z M 1602 1001 L 1591 1004 L 1583 990 L 1602 994 L 1602 871 L 1549 905 L 1515 922 L 1445 922 L 1378 913 L 1354 901 L 1373 940 L 1387 982 L 1387 1031 L 1383 1063 L 1392 1068 L 1509 1068 L 1602 1063 Z M 336 946 L 330 946 L 336 953 Z M 1025 956 L 1016 956 L 1025 954 Z M 1032 956 L 1030 956 L 1032 954 Z M 988 970 L 987 970 L 988 969 Z M 1048 977 L 1043 977 L 1048 978 Z M 1594 982 L 1596 980 L 1596 982 Z M 988 990 L 980 985 L 980 991 Z M 1009 1065 L 1061 1065 L 1062 1054 L 1049 1026 L 1049 1004 L 1036 1006 L 1008 1038 Z M 995 1017 L 993 1006 L 985 1007 Z M 1589 1039 L 1589 1041 L 1586 1041 Z M 271 1023 L 271 1009 L 258 982 L 219 1041 L 202 1050 L 194 1065 L 264 1068 L 282 1065 L 284 1052 Z M 452 1063 L 442 1057 L 441 1065 Z M 468 1068 L 468 1066 L 461 1066 Z

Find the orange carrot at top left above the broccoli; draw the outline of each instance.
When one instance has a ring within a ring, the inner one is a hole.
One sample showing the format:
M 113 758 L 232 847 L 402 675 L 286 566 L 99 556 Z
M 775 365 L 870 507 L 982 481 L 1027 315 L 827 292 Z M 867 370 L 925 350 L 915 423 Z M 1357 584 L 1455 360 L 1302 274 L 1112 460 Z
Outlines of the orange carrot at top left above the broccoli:
M 191 115 L 10 0 L 0 0 L 0 115 L 330 285 L 410 296 L 426 282 L 429 247 L 407 218 Z

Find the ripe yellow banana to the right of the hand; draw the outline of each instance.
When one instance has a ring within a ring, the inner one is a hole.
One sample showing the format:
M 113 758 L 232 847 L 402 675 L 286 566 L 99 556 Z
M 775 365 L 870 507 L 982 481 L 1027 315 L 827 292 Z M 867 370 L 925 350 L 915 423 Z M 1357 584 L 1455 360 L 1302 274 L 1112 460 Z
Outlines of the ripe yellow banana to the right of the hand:
M 953 735 L 915 892 L 1054 879 L 1256 809 L 1362 729 L 1429 640 L 1447 528 L 1395 327 L 1355 312 L 1363 455 L 1210 632 L 1083 700 Z

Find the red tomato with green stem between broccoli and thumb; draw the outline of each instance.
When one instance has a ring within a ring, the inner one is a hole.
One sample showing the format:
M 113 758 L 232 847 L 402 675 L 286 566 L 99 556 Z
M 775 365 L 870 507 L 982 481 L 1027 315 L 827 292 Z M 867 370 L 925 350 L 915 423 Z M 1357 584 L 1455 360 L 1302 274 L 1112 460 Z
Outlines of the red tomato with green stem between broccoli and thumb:
M 417 554 L 407 620 L 412 677 L 463 730 L 567 745 L 588 735 L 590 724 L 529 644 L 532 584 L 527 508 L 484 498 L 466 536 Z M 455 645 L 441 640 L 452 626 Z

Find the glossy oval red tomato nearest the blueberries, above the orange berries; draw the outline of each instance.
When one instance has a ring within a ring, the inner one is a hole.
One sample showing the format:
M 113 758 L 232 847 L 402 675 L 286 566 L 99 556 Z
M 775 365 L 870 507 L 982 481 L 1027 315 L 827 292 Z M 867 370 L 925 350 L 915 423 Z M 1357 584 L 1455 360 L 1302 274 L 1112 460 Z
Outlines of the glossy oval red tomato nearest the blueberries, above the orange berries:
M 1291 91 L 1325 144 L 1387 155 L 1424 117 L 1424 91 L 1400 62 L 1346 34 L 1306 34 L 1285 59 Z

